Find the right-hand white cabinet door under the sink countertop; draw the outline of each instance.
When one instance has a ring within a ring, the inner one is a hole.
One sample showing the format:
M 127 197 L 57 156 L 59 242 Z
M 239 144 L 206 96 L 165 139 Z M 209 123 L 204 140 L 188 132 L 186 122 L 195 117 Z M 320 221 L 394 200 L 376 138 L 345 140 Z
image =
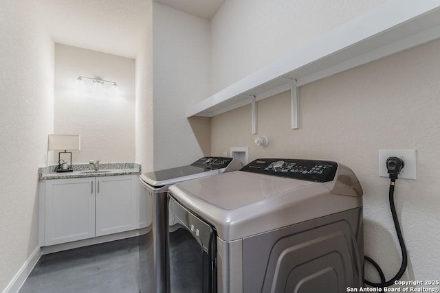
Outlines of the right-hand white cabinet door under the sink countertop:
M 96 177 L 96 236 L 137 228 L 136 176 Z

